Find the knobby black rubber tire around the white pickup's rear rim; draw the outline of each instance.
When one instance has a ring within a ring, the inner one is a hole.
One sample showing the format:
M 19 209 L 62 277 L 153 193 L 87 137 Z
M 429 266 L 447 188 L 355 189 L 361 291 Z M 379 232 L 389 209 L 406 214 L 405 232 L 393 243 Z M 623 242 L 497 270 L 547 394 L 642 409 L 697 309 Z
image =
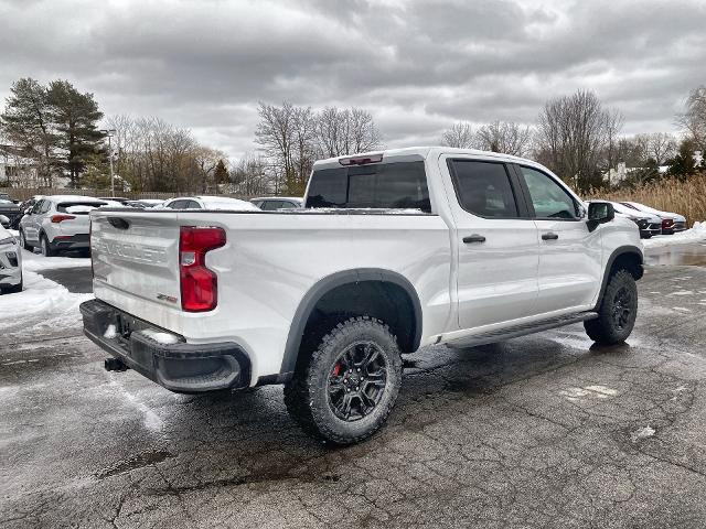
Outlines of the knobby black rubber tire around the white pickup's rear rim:
M 346 421 L 332 409 L 330 377 L 340 364 L 341 355 L 352 347 L 360 347 L 355 345 L 360 343 L 374 344 L 384 359 L 385 386 L 368 414 Z M 346 445 L 370 438 L 385 423 L 402 386 L 399 347 L 387 325 L 368 316 L 352 317 L 323 336 L 315 350 L 301 350 L 300 355 L 306 356 L 300 357 L 292 379 L 285 386 L 285 403 L 306 433 L 332 444 Z

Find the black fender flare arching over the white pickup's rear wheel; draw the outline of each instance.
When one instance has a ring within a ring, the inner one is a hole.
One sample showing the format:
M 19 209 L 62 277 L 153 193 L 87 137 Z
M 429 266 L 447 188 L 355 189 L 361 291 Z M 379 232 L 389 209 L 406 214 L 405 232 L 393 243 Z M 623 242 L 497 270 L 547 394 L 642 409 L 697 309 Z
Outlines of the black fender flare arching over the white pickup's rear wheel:
M 307 322 L 311 312 L 317 306 L 317 303 L 331 290 L 342 287 L 344 284 L 359 283 L 363 281 L 379 281 L 394 283 L 405 290 L 415 313 L 415 333 L 413 338 L 413 348 L 416 350 L 421 342 L 421 303 L 419 302 L 419 295 L 417 294 L 414 285 L 404 276 L 393 272 L 391 270 L 377 269 L 377 268 L 359 268 L 352 270 L 343 270 L 341 272 L 332 273 L 325 278 L 317 281 L 317 283 L 309 289 L 304 296 L 299 302 L 299 306 L 295 312 L 295 316 L 289 326 L 289 335 L 287 336 L 287 345 L 285 346 L 285 354 L 282 356 L 282 364 L 277 376 L 277 381 L 286 381 L 291 378 L 297 365 L 297 357 L 299 356 L 299 347 L 301 346 L 301 338 L 307 326 Z M 264 377 L 269 378 L 269 377 Z M 260 379 L 260 382 L 264 380 Z

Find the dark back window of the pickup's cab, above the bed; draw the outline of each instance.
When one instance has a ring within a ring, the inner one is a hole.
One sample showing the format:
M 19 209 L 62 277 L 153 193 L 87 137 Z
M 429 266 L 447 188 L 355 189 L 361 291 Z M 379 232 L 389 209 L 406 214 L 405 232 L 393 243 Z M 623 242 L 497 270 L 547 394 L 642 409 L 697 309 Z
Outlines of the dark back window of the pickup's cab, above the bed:
M 430 212 L 424 162 L 314 171 L 306 207 L 415 208 Z

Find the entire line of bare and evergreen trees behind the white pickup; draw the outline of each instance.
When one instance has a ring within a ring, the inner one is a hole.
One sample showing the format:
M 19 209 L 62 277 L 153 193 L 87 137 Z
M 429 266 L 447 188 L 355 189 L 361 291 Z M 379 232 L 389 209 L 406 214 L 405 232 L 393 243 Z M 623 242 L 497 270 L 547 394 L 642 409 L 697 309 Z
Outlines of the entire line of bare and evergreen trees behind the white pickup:
M 362 108 L 314 110 L 285 101 L 259 102 L 257 112 L 257 151 L 231 162 L 224 152 L 200 144 L 186 128 L 157 117 L 104 119 L 93 94 L 82 94 L 66 80 L 41 85 L 23 78 L 13 83 L 0 115 L 0 144 L 9 143 L 18 159 L 32 162 L 34 171 L 28 174 L 38 182 L 29 185 L 51 187 L 56 176 L 64 176 L 72 187 L 107 188 L 111 160 L 118 190 L 126 184 L 135 192 L 246 196 L 301 195 L 314 160 L 384 148 L 372 114 Z M 689 93 L 676 116 L 684 131 L 681 140 L 664 132 L 628 137 L 621 134 L 623 121 L 596 94 L 578 90 L 547 100 L 535 123 L 499 120 L 474 128 L 458 121 L 439 140 L 535 159 L 580 192 L 606 185 L 606 175 L 620 162 L 631 170 L 619 185 L 656 180 L 664 165 L 667 174 L 682 179 L 706 169 L 693 155 L 706 152 L 705 86 Z

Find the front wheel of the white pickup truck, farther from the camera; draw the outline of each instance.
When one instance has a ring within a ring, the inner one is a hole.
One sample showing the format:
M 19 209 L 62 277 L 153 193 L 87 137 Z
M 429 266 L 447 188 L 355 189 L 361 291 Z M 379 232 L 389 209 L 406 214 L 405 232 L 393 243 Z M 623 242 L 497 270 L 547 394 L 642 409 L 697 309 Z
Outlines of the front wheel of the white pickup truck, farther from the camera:
M 598 317 L 584 322 L 586 334 L 601 345 L 624 342 L 638 317 L 638 287 L 627 270 L 617 270 L 608 281 Z

